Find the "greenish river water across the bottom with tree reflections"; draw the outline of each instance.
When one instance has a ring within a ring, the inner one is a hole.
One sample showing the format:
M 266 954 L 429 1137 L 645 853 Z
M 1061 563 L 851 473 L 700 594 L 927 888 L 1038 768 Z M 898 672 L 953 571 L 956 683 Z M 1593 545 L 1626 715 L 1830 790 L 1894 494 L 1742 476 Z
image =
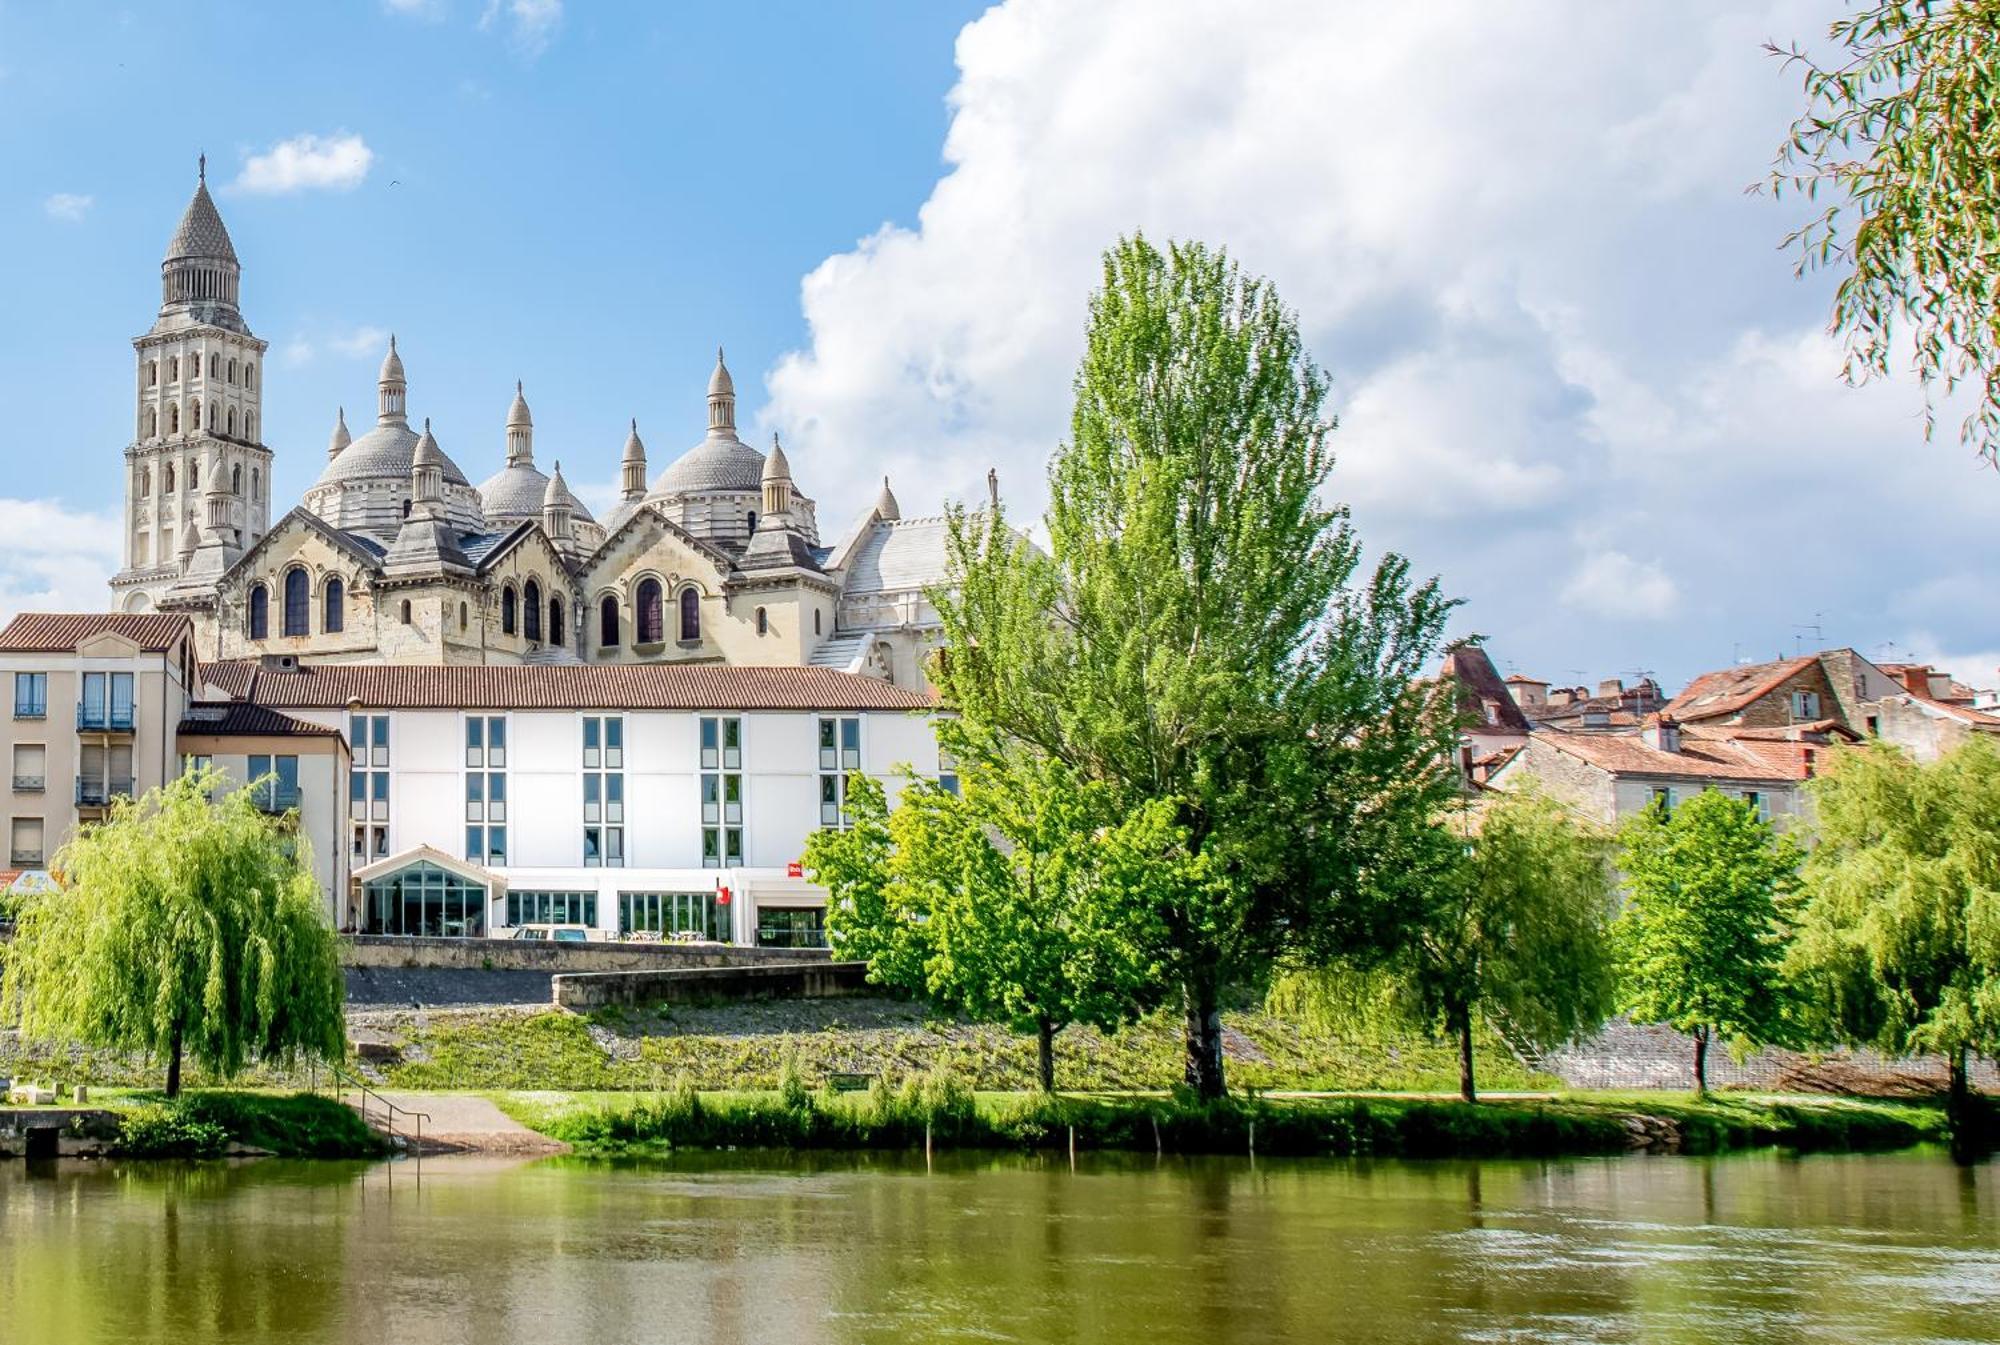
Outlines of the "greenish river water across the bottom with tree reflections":
M 0 1165 L 0 1341 L 2000 1341 L 2000 1169 Z

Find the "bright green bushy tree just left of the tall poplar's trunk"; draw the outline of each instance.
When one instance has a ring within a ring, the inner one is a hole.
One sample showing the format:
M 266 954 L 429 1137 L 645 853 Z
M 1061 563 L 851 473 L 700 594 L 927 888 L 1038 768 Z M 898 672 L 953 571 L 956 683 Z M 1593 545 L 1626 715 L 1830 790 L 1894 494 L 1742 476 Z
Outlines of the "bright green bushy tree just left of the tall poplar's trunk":
M 940 725 L 964 751 L 966 735 Z M 852 777 L 850 831 L 822 831 L 806 869 L 828 929 L 870 977 L 974 1017 L 1032 1023 L 1038 1079 L 1056 1087 L 1056 1035 L 1112 1031 L 1146 1005 L 1152 893 L 1172 871 L 1172 813 L 1118 817 L 1102 785 L 1030 751 L 960 767 L 958 795 L 912 779 L 894 813 Z

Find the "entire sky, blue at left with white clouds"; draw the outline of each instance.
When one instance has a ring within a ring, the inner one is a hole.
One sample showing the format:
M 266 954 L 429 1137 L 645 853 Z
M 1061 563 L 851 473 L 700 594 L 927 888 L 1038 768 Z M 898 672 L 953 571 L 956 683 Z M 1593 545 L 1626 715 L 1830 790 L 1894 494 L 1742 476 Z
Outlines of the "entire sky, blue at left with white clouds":
M 2000 472 L 1850 388 L 1828 276 L 1746 194 L 1836 0 L 590 4 L 0 0 L 0 614 L 102 608 L 130 338 L 196 154 L 270 342 L 274 500 L 412 414 L 480 480 L 514 380 L 608 502 L 706 424 L 782 432 L 838 532 L 1046 502 L 1100 254 L 1202 238 L 1332 380 L 1372 556 L 1554 683 L 1854 646 L 2000 681 Z

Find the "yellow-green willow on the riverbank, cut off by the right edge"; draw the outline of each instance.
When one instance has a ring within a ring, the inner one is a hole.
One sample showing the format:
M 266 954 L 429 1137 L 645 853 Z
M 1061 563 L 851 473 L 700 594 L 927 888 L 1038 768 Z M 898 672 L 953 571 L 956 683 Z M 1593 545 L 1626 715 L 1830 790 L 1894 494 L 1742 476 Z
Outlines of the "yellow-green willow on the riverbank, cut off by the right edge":
M 1964 1135 L 1968 1053 L 2000 1053 L 2000 749 L 1972 739 L 1932 765 L 1890 747 L 1840 753 L 1812 783 L 1798 977 L 1808 1025 L 1950 1063 Z

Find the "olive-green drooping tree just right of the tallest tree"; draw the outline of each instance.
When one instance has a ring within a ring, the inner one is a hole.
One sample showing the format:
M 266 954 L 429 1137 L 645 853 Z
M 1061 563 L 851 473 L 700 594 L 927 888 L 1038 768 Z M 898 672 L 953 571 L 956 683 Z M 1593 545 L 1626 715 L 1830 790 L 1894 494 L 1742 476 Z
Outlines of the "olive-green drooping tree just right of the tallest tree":
M 1474 1015 L 1542 1051 L 1602 1027 L 1616 997 L 1604 835 L 1544 795 L 1504 795 L 1478 813 L 1468 837 L 1438 827 L 1416 873 L 1424 919 L 1412 939 L 1368 975 L 1288 975 L 1272 1009 L 1444 1037 L 1458 1047 L 1458 1093 L 1468 1103 L 1478 1101 Z

